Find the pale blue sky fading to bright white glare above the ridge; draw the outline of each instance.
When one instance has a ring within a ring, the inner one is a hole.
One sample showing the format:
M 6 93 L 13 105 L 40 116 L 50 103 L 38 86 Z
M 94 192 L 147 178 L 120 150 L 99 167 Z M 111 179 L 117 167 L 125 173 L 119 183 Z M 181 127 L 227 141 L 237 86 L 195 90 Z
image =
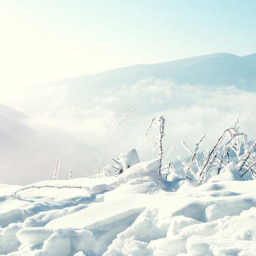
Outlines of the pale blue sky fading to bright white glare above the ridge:
M 255 0 L 0 0 L 3 85 L 256 53 Z

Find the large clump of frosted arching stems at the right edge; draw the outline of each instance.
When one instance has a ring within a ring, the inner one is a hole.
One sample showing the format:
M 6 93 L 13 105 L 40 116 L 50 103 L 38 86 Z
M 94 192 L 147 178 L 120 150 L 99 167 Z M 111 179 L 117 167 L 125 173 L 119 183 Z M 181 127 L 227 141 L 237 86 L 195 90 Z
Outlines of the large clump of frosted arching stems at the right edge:
M 250 171 L 252 177 L 254 179 L 256 178 L 256 171 L 254 169 L 256 166 L 256 157 L 255 152 L 253 152 L 256 146 L 256 138 L 251 143 L 251 146 L 247 145 L 247 135 L 238 132 L 238 118 L 239 115 L 236 116 L 233 127 L 222 132 L 212 150 L 207 150 L 203 153 L 203 160 L 201 161 L 197 158 L 197 150 L 201 141 L 204 139 L 204 135 L 201 136 L 199 142 L 196 144 L 194 152 L 187 146 L 185 141 L 182 141 L 185 150 L 192 155 L 189 163 L 179 157 L 184 166 L 185 177 L 188 179 L 197 179 L 201 182 L 204 174 L 210 170 L 217 170 L 217 174 L 220 174 L 222 167 L 230 162 L 230 151 L 232 150 L 236 154 L 236 168 L 239 172 L 242 173 L 243 168 L 246 168 L 245 172 L 241 174 L 241 177 Z M 223 143 L 224 139 L 228 139 L 228 141 Z

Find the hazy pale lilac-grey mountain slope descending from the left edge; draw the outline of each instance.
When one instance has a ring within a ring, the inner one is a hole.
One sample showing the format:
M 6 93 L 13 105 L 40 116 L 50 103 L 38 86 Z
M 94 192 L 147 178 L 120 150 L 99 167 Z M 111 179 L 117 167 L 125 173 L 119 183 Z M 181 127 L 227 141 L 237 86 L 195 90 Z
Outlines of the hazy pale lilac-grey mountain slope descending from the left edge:
M 29 117 L 0 105 L 0 183 L 26 184 L 52 179 L 59 158 L 59 179 L 87 177 L 96 171 L 101 150 L 60 129 L 32 125 Z

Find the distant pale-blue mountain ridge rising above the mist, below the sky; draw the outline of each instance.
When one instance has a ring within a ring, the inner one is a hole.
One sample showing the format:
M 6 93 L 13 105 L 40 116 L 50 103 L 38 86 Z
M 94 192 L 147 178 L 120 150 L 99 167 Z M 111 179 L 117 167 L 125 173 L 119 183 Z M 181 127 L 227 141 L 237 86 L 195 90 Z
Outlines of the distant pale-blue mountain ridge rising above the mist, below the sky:
M 174 84 L 192 86 L 236 86 L 254 91 L 256 88 L 256 54 L 239 57 L 230 53 L 216 53 L 157 64 L 141 64 L 83 75 L 53 84 L 120 86 L 131 85 L 139 79 L 154 77 L 170 79 Z

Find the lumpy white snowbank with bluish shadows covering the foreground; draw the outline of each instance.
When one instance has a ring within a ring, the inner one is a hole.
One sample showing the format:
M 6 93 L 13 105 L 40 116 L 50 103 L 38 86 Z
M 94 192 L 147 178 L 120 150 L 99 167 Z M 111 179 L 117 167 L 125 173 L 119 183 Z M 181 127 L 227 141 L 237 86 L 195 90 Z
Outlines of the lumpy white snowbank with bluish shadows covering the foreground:
M 203 183 L 174 173 L 166 181 L 158 167 L 0 185 L 0 254 L 256 255 L 254 180 L 232 162 Z

